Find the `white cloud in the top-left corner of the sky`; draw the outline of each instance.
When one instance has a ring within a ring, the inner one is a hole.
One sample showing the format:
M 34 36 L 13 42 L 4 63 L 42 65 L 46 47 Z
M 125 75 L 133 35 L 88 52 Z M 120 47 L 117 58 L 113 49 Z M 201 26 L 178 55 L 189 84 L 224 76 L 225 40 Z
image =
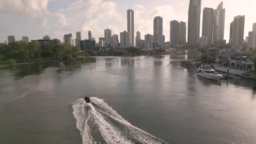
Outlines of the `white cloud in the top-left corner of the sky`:
M 47 4 L 48 0 L 3 0 L 0 15 L 38 17 L 48 14 Z

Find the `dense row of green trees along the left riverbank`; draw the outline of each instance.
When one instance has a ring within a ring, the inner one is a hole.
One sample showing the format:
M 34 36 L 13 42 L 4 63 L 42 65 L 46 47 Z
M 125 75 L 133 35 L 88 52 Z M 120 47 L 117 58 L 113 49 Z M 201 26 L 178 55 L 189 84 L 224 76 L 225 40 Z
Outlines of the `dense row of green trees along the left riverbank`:
M 58 40 L 45 43 L 32 41 L 16 41 L 10 44 L 0 44 L 0 61 L 26 62 L 38 59 L 55 59 L 60 61 L 74 61 L 82 56 L 79 47 L 61 44 Z

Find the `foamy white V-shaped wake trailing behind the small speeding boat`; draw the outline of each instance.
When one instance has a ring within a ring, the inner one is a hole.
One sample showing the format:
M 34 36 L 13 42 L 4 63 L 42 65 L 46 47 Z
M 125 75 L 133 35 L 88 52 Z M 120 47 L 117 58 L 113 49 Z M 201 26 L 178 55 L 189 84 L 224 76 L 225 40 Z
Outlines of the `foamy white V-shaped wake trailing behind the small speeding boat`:
M 132 126 L 102 99 L 90 99 L 91 103 L 79 99 L 72 106 L 84 144 L 166 143 Z

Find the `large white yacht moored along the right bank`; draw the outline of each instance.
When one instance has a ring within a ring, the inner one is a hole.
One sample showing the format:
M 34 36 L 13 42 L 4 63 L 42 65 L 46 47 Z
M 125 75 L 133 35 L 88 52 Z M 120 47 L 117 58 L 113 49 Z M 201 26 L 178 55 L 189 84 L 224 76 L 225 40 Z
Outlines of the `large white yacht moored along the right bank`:
M 197 76 L 205 77 L 210 80 L 219 80 L 222 75 L 218 74 L 214 69 L 212 69 L 211 65 L 202 65 L 197 70 Z

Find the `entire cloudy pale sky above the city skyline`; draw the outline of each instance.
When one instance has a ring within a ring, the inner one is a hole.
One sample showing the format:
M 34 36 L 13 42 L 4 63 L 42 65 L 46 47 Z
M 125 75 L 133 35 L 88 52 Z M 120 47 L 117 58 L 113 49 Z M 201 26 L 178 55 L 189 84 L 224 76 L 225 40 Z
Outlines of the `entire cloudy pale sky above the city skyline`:
M 202 0 L 201 9 L 216 9 L 221 1 Z M 245 37 L 256 22 L 255 0 L 223 0 L 226 9 L 224 38 L 229 40 L 230 22 L 234 16 L 245 15 Z M 82 39 L 104 37 L 104 29 L 120 35 L 127 31 L 127 9 L 135 10 L 135 34 L 153 34 L 153 20 L 161 16 L 164 20 L 165 41 L 170 39 L 170 21 L 178 20 L 188 25 L 189 0 L 0 0 L 0 43 L 7 35 L 21 40 L 26 35 L 30 40 L 51 39 L 63 41 L 63 35 L 82 32 Z M 201 10 L 201 21 L 202 21 Z M 202 29 L 202 22 L 201 27 Z M 201 32 L 200 32 L 201 35 Z

